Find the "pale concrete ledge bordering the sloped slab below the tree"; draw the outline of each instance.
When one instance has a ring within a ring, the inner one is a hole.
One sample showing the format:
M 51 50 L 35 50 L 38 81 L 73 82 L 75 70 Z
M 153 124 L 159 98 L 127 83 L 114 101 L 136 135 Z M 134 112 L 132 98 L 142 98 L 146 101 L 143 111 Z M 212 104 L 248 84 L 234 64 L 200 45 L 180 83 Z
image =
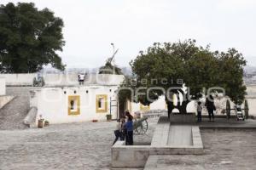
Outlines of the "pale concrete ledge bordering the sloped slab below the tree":
M 116 142 L 111 149 L 112 167 L 144 167 L 148 156 L 153 155 L 201 155 L 204 153 L 199 127 L 191 127 L 192 145 L 167 145 L 169 132 L 166 129 L 170 128 L 170 125 L 168 127 L 167 125 L 168 123 L 160 123 L 157 126 L 154 144 L 125 145 L 124 141 Z M 166 129 L 163 130 L 163 128 Z

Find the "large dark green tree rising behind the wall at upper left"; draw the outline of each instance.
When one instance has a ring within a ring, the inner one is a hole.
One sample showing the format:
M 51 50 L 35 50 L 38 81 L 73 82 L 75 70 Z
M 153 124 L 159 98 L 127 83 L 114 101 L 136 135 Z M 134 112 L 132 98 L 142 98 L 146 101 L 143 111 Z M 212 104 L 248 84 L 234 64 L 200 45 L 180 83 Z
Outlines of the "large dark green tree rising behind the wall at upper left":
M 0 69 L 2 72 L 36 72 L 44 65 L 64 70 L 63 21 L 48 8 L 38 10 L 34 3 L 8 3 L 0 6 Z

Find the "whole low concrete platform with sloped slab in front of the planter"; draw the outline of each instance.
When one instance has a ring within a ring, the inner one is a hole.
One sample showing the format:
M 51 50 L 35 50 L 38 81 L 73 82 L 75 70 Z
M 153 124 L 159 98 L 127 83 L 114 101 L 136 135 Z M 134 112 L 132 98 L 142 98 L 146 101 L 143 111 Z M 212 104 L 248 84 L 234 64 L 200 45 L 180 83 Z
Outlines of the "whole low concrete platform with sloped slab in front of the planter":
M 201 155 L 203 144 L 198 126 L 171 125 L 160 116 L 151 145 L 125 145 L 118 141 L 111 148 L 113 168 L 141 168 L 154 155 Z

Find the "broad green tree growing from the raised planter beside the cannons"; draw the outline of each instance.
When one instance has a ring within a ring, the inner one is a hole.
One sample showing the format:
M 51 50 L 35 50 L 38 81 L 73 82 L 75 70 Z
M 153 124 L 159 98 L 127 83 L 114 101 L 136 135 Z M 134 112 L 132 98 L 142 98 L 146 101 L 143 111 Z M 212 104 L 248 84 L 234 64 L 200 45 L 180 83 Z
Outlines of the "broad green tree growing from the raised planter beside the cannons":
M 230 48 L 227 52 L 211 51 L 209 46 L 197 46 L 195 40 L 190 39 L 183 42 L 154 43 L 146 52 L 141 51 L 136 59 L 131 60 L 130 65 L 133 76 L 126 77 L 122 88 L 131 88 L 140 94 L 120 90 L 119 99 L 124 101 L 134 97 L 136 102 L 149 105 L 164 93 L 161 89 L 150 90 L 149 100 L 145 95 L 148 88 L 158 87 L 167 91 L 170 87 L 177 87 L 170 90 L 169 96 L 164 94 L 169 114 L 173 108 L 186 113 L 189 101 L 200 99 L 206 89 L 212 87 L 224 88 L 226 95 L 236 104 L 241 104 L 246 93 L 242 80 L 246 61 L 235 48 Z M 189 88 L 188 92 L 183 85 Z M 218 90 L 215 88 L 215 91 Z M 177 105 L 172 101 L 174 94 L 177 94 Z M 178 94 L 183 94 L 183 99 Z

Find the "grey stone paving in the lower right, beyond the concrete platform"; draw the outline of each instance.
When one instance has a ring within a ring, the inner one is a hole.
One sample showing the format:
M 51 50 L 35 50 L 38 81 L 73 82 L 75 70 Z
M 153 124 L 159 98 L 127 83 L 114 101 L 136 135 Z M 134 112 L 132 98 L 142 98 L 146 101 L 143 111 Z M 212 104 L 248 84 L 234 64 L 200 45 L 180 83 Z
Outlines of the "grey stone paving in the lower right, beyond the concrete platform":
M 256 131 L 248 129 L 202 129 L 205 154 L 154 156 L 154 170 L 254 170 Z M 151 169 L 151 168 L 149 168 Z

